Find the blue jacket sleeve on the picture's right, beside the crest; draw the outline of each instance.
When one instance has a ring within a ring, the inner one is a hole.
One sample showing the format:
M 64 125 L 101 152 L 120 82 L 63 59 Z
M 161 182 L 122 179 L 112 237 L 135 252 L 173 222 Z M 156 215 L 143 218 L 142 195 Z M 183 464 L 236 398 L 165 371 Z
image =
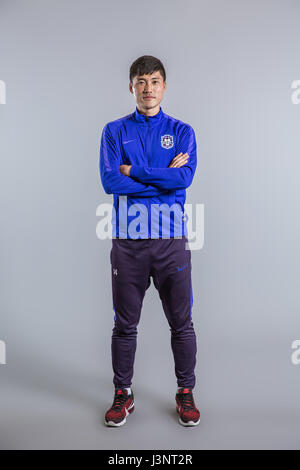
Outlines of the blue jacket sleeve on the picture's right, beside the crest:
M 184 189 L 193 181 L 197 167 L 197 144 L 194 129 L 186 125 L 176 143 L 176 155 L 188 153 L 189 159 L 180 168 L 151 168 L 133 165 L 130 176 L 141 183 L 153 184 L 158 188 Z

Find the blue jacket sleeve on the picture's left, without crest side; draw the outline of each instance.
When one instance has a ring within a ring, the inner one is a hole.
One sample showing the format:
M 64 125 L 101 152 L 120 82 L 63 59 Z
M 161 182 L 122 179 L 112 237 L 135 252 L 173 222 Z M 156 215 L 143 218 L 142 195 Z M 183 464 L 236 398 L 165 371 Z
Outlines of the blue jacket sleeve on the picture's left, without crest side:
M 100 143 L 99 170 L 104 191 L 107 194 L 122 194 L 137 197 L 157 196 L 168 192 L 149 184 L 134 181 L 130 176 L 120 172 L 120 150 L 106 124 L 102 131 Z

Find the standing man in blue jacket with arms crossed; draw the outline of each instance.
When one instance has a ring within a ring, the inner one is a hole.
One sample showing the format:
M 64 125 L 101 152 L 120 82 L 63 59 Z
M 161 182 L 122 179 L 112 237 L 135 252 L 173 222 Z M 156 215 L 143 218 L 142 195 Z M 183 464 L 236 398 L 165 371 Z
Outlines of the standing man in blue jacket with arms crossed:
M 102 185 L 114 198 L 110 261 L 115 394 L 105 423 L 121 426 L 134 410 L 131 384 L 137 325 L 152 277 L 171 331 L 179 422 L 194 426 L 200 422 L 200 412 L 193 398 L 197 346 L 184 203 L 197 166 L 196 138 L 190 125 L 168 116 L 160 106 L 166 72 L 159 59 L 139 57 L 129 78 L 136 109 L 107 123 L 100 144 Z

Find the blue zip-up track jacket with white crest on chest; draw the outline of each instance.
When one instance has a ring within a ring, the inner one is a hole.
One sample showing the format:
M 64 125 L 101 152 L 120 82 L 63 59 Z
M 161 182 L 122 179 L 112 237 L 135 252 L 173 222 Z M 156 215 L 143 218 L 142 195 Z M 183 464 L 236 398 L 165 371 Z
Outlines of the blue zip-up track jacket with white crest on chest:
M 187 163 L 168 168 L 180 152 L 189 154 Z M 123 164 L 132 165 L 130 176 L 120 172 Z M 103 188 L 114 198 L 113 238 L 187 236 L 184 203 L 196 166 L 193 128 L 161 107 L 154 116 L 136 107 L 108 122 L 101 135 L 99 168 Z

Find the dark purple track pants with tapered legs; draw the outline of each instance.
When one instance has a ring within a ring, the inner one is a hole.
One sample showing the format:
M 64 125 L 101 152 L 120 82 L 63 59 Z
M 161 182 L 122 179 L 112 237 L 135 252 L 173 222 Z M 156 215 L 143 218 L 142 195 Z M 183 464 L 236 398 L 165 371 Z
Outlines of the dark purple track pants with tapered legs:
M 197 345 L 187 238 L 113 238 L 110 262 L 115 312 L 111 340 L 114 386 L 132 384 L 137 325 L 151 276 L 170 326 L 177 384 L 193 388 Z

